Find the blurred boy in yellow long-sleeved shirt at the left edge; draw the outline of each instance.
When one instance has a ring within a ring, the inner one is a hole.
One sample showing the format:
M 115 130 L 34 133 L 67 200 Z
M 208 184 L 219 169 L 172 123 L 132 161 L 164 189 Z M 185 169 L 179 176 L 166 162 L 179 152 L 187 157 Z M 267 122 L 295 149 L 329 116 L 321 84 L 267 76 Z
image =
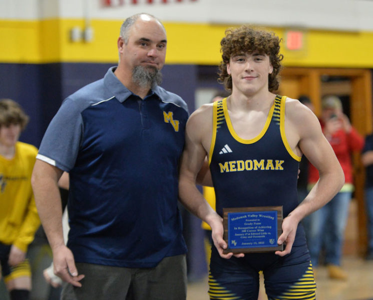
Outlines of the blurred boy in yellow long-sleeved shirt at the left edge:
M 0 262 L 12 300 L 30 298 L 26 253 L 40 226 L 31 187 L 38 149 L 18 141 L 28 120 L 18 103 L 0 99 Z

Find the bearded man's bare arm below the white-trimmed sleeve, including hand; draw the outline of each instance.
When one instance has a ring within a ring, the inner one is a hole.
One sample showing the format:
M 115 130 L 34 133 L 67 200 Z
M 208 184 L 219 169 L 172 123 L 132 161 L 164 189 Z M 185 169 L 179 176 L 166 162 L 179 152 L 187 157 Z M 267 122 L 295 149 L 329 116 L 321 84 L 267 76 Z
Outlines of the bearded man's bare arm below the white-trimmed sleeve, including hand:
M 64 242 L 61 196 L 58 187 L 62 173 L 63 170 L 37 159 L 31 182 L 39 216 L 53 251 L 55 273 L 64 281 L 82 286 L 79 280 L 84 275 L 78 276 L 73 253 Z

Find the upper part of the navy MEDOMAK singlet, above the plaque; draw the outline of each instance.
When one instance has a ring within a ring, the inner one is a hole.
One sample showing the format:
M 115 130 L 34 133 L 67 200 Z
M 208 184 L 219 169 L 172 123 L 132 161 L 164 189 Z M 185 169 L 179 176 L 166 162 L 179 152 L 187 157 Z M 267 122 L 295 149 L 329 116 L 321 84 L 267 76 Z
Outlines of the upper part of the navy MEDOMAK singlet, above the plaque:
M 285 99 L 276 96 L 263 129 L 252 139 L 235 133 L 226 98 L 214 103 L 209 162 L 220 215 L 223 207 L 283 205 L 286 216 L 298 205 L 300 157 L 286 140 Z

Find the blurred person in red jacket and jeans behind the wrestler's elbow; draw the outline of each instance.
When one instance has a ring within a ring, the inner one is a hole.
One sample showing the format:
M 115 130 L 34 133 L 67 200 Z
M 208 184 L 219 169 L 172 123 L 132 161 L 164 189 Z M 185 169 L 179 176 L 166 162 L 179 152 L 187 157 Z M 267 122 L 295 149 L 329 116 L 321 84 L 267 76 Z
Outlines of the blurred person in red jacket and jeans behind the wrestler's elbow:
M 340 258 L 353 191 L 351 152 L 360 151 L 364 139 L 343 113 L 341 101 L 337 96 L 327 95 L 322 98 L 320 123 L 343 169 L 345 183 L 331 201 L 308 216 L 307 242 L 313 267 L 317 266 L 320 250 L 323 247 L 324 263 L 327 265 L 329 277 L 345 280 L 347 274 L 340 267 Z M 310 165 L 308 188 L 311 188 L 317 180 L 318 172 L 313 165 Z

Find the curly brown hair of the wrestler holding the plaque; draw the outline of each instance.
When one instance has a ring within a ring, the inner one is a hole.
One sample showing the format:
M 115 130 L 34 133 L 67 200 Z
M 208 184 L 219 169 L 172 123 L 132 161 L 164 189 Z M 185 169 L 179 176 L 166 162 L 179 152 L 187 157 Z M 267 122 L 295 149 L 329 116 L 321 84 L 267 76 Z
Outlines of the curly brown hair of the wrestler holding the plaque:
M 279 53 L 281 41 L 282 38 L 276 36 L 274 32 L 255 29 L 247 25 L 242 25 L 238 28 L 228 28 L 225 30 L 225 36 L 220 41 L 220 51 L 222 52 L 223 60 L 219 65 L 218 81 L 224 84 L 225 89 L 231 91 L 232 77 L 227 72 L 227 63 L 229 63 L 231 56 L 257 51 L 269 56 L 273 71 L 268 74 L 268 90 L 271 92 L 276 91 L 279 85 L 280 61 L 283 58 L 283 55 Z

